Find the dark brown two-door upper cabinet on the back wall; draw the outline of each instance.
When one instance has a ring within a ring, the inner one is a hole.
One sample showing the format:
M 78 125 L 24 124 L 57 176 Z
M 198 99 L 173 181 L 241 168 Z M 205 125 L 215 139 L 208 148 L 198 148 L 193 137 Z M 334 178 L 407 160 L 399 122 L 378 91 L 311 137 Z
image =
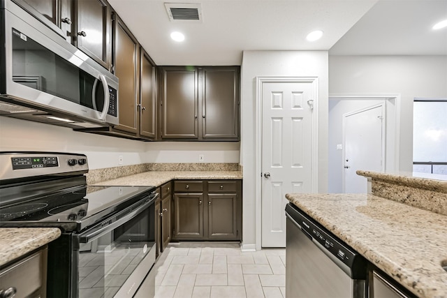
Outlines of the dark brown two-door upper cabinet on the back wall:
M 160 69 L 162 140 L 239 140 L 239 67 Z

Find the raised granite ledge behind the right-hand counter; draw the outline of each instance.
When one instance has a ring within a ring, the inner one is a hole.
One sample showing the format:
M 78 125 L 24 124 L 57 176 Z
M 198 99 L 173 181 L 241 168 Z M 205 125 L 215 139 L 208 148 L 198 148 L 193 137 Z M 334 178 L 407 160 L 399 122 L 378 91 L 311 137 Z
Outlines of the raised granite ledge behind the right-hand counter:
M 371 178 L 373 195 L 447 215 L 447 181 L 369 171 L 357 174 Z

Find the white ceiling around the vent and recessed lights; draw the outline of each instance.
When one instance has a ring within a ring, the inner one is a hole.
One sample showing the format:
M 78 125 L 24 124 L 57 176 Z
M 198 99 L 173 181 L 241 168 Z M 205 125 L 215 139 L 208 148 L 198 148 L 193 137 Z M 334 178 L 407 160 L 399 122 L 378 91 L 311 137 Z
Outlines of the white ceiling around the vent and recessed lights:
M 240 65 L 244 50 L 447 54 L 447 0 L 109 0 L 157 65 Z M 200 3 L 202 21 L 171 22 L 164 3 Z M 310 31 L 323 38 L 308 42 Z M 172 31 L 185 35 L 182 43 Z

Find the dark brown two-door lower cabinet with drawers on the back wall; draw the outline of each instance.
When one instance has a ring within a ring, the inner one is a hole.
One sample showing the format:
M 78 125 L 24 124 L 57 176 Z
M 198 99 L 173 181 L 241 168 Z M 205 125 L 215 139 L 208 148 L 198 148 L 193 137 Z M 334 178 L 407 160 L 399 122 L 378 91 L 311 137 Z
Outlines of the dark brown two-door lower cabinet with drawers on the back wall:
M 173 239 L 240 241 L 242 181 L 175 181 L 174 191 Z

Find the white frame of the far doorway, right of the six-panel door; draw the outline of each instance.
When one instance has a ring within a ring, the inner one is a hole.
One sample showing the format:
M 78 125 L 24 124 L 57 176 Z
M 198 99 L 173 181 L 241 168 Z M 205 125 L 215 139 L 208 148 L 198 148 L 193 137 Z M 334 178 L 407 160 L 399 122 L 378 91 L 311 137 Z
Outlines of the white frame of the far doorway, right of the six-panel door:
M 401 98 L 400 94 L 361 94 L 361 95 L 343 95 L 343 94 L 330 94 L 329 100 L 331 98 L 359 98 L 359 100 L 374 100 L 374 99 L 382 99 L 386 101 L 386 113 L 387 115 L 393 114 L 394 116 L 394 128 L 389 127 L 390 121 L 386 120 L 386 131 L 387 135 L 390 133 L 390 130 L 393 129 L 394 136 L 390 137 L 388 135 L 386 137 L 386 165 L 385 169 L 387 172 L 398 172 L 400 167 L 400 110 L 401 110 Z M 388 108 L 388 105 L 394 105 L 393 108 Z M 393 151 L 389 151 L 389 147 L 393 148 Z M 393 162 L 390 162 L 393 161 Z M 329 177 L 330 179 L 330 177 Z

